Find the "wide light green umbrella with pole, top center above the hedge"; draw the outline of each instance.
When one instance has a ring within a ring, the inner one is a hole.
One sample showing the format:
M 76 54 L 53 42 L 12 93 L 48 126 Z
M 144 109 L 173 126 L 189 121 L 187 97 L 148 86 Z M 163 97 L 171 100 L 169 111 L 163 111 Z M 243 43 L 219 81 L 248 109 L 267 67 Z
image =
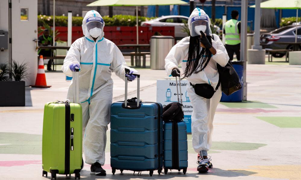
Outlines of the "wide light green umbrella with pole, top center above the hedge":
M 138 44 L 138 6 L 171 4 L 187 4 L 187 2 L 180 0 L 98 0 L 88 4 L 87 6 L 136 6 L 136 29 Z

